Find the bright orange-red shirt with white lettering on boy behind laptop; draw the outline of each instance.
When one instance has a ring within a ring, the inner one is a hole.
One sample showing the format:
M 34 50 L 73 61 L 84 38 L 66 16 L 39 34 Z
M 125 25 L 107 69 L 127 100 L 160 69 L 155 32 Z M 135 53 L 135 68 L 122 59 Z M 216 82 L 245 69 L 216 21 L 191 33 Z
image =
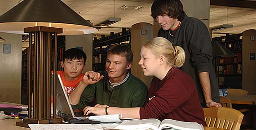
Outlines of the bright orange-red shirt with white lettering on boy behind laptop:
M 75 79 L 73 81 L 68 81 L 65 78 L 65 72 L 64 71 L 57 71 L 57 74 L 60 74 L 60 76 L 62 78 L 62 82 L 63 82 L 63 85 L 64 85 L 64 88 L 66 90 L 67 95 L 71 94 L 71 92 L 75 90 L 75 88 L 79 85 L 79 83 L 84 78 L 84 73 L 81 73 L 77 79 Z

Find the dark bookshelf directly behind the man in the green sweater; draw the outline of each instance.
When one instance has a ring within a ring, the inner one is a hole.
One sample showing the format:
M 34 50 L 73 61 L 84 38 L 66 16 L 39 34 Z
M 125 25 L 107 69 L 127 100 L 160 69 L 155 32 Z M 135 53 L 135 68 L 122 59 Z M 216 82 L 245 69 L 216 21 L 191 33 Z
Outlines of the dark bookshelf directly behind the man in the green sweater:
M 131 30 L 122 28 L 122 32 L 110 32 L 108 37 L 102 35 L 100 39 L 93 39 L 93 71 L 105 70 L 107 50 L 116 44 L 131 47 Z

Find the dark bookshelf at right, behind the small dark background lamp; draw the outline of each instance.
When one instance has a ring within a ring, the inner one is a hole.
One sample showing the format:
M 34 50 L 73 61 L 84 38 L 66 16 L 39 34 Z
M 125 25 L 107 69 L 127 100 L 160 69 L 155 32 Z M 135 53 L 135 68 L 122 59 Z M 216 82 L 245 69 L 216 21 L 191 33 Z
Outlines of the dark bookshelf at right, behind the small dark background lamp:
M 229 35 L 213 38 L 229 49 L 236 56 L 219 57 L 217 66 L 217 79 L 219 88 L 238 88 L 242 89 L 242 41 L 243 35 Z

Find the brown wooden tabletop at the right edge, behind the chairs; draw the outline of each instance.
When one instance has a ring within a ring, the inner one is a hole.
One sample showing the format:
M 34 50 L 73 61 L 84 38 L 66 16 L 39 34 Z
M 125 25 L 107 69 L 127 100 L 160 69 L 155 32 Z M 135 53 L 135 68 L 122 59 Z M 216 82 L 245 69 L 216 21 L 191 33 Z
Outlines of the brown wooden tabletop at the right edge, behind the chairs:
M 229 95 L 232 104 L 255 105 L 256 95 Z

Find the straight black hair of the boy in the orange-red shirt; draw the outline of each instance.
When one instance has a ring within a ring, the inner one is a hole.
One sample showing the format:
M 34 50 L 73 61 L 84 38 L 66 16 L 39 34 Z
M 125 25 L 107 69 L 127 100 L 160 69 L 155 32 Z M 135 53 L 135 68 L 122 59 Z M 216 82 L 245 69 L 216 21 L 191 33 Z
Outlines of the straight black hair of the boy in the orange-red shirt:
M 64 56 L 63 56 L 63 61 L 65 61 L 65 59 L 84 59 L 84 65 L 85 65 L 85 61 L 86 61 L 86 54 L 84 53 L 84 51 L 78 49 L 78 48 L 70 48 L 68 50 L 66 50 L 64 52 Z

